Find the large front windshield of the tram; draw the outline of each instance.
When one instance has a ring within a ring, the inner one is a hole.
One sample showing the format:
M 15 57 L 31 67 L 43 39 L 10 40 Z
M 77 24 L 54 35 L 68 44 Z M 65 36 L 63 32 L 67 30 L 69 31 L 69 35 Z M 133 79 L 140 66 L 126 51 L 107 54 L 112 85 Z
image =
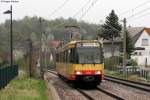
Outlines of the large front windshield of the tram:
M 79 64 L 102 63 L 101 49 L 99 47 L 77 48 L 77 58 Z

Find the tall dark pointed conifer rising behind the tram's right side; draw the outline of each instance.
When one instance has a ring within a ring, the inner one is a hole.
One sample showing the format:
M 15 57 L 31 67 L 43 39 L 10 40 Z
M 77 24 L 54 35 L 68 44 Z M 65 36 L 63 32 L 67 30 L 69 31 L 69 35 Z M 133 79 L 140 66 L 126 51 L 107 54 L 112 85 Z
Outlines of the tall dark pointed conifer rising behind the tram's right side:
M 99 36 L 112 42 L 112 57 L 114 56 L 114 38 L 120 36 L 122 26 L 119 24 L 119 18 L 112 10 L 111 13 L 106 17 L 105 23 L 101 26 Z

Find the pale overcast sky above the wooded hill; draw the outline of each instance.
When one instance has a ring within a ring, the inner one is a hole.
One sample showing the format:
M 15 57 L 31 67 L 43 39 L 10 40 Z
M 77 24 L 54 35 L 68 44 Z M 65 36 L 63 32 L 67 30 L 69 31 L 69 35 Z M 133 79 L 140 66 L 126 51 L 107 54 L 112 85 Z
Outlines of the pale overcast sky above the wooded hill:
M 0 23 L 9 19 L 3 12 L 10 5 L 11 3 L 0 3 Z M 150 0 L 19 0 L 19 3 L 12 5 L 15 20 L 25 16 L 44 17 L 48 20 L 74 17 L 98 24 L 103 23 L 114 9 L 120 20 L 127 18 L 128 26 L 150 27 Z

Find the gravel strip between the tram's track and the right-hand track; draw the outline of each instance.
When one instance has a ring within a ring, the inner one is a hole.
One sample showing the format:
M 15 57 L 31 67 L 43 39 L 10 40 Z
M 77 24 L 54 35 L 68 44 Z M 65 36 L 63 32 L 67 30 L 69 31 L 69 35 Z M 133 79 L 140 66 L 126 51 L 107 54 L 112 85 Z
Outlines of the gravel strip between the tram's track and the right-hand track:
M 148 92 L 111 81 L 103 81 L 100 87 L 112 91 L 113 93 L 125 98 L 126 100 L 150 100 L 150 93 Z

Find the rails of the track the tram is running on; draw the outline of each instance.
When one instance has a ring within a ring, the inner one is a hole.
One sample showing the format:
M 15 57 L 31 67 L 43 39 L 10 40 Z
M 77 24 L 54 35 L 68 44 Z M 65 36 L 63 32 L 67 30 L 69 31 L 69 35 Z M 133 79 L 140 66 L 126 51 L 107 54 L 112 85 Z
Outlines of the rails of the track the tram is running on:
M 54 71 L 54 70 L 48 70 L 48 72 L 50 72 L 50 73 L 52 73 L 52 74 L 58 76 L 57 72 Z M 69 85 L 69 86 L 70 86 L 70 85 Z M 70 86 L 70 87 L 72 87 L 72 86 Z M 89 94 L 87 94 L 87 93 L 85 92 L 85 90 L 80 89 L 80 88 L 77 88 L 77 87 L 75 87 L 74 89 L 76 89 L 76 90 L 77 90 L 80 94 L 82 94 L 86 99 L 88 99 L 88 100 L 95 100 L 92 96 L 90 96 Z M 118 95 L 113 94 L 111 91 L 105 90 L 105 89 L 103 89 L 103 88 L 101 88 L 101 87 L 97 87 L 97 88 L 96 88 L 96 91 L 99 91 L 99 92 L 101 92 L 101 93 L 104 93 L 104 94 L 106 94 L 106 95 L 108 95 L 108 96 L 110 96 L 111 98 L 114 98 L 114 99 L 116 99 L 116 100 L 124 100 L 123 98 L 119 97 Z M 91 94 L 92 94 L 92 93 L 91 93 Z

